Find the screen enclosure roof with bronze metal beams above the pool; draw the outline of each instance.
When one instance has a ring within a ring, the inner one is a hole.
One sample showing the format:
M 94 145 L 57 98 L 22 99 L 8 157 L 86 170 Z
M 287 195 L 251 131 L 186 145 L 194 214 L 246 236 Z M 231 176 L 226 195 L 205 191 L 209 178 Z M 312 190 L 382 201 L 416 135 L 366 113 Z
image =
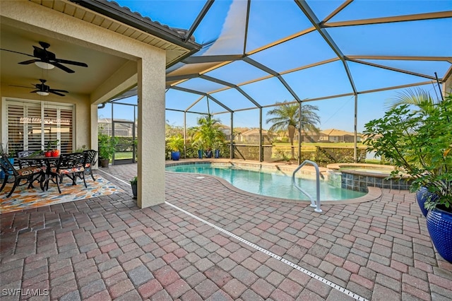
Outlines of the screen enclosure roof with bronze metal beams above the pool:
M 118 1 L 170 26 L 201 51 L 167 69 L 167 110 L 237 112 L 446 82 L 450 1 Z M 130 94 L 129 94 L 130 95 Z M 210 106 L 206 105 L 210 100 Z

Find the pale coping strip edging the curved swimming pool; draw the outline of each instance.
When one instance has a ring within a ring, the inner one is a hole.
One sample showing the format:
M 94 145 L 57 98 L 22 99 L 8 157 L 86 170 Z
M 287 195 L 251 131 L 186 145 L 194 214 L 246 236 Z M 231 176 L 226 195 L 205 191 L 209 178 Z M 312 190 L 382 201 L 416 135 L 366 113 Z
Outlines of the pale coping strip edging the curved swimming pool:
M 175 165 L 184 165 L 184 164 L 201 164 L 201 163 L 231 163 L 231 164 L 244 164 L 244 165 L 261 165 L 261 166 L 268 166 L 268 167 L 273 166 L 273 167 L 277 167 L 277 168 L 280 168 L 280 165 L 284 165 L 285 167 L 287 167 L 287 170 L 290 170 L 290 167 L 293 167 L 292 168 L 293 170 L 295 170 L 295 168 L 298 167 L 298 165 L 285 165 L 285 164 L 281 164 L 281 163 L 261 163 L 258 161 L 250 161 L 250 160 L 246 160 L 246 162 L 245 162 L 244 160 L 230 160 L 230 159 L 229 160 L 226 160 L 226 159 L 178 160 L 176 163 L 174 161 L 169 161 L 165 164 L 165 166 L 175 166 Z M 323 169 L 323 171 L 321 171 L 321 172 L 327 171 L 327 169 L 325 167 L 319 167 L 319 169 L 320 168 Z M 310 168 L 308 167 L 307 169 L 310 169 Z M 308 201 L 308 200 L 283 199 L 283 198 L 278 198 L 275 196 L 263 196 L 261 194 L 254 194 L 252 192 L 244 191 L 242 189 L 234 187 L 234 185 L 230 184 L 230 182 L 227 182 L 227 180 L 222 179 L 220 177 L 213 176 L 213 175 L 198 174 L 198 173 L 194 173 L 194 172 L 169 172 L 169 173 L 177 173 L 177 174 L 184 174 L 184 175 L 197 175 L 198 177 L 199 176 L 211 177 L 211 178 L 217 179 L 218 182 L 220 182 L 227 189 L 230 189 L 238 194 L 244 194 L 249 197 L 265 199 L 267 201 L 281 201 L 281 202 L 285 202 L 285 203 L 307 203 L 307 204 L 311 203 L 311 201 Z M 374 201 L 374 200 L 378 199 L 382 194 L 382 191 L 379 187 L 367 187 L 367 189 L 368 189 L 368 192 L 364 196 L 359 196 L 358 198 L 355 198 L 355 199 L 345 199 L 345 200 L 341 200 L 341 201 L 322 201 L 321 200 L 321 205 L 346 205 L 346 204 L 351 204 L 351 203 L 365 203 L 368 201 Z

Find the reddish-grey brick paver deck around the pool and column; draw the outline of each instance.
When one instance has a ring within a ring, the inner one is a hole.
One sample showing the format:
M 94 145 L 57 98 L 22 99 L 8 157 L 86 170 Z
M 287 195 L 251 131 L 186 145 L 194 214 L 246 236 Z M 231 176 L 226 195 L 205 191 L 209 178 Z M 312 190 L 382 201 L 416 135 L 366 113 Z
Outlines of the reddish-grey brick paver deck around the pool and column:
M 128 192 L 0 216 L 1 300 L 452 300 L 408 191 L 315 213 L 167 173 L 140 209 L 136 165 L 98 173 Z

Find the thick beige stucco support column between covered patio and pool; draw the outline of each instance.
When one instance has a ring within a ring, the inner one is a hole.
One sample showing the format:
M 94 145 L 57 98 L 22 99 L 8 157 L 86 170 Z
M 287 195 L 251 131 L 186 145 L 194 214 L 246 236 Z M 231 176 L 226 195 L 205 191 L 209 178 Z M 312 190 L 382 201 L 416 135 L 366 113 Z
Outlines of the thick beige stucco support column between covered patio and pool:
M 165 52 L 138 60 L 138 198 L 140 208 L 165 202 Z

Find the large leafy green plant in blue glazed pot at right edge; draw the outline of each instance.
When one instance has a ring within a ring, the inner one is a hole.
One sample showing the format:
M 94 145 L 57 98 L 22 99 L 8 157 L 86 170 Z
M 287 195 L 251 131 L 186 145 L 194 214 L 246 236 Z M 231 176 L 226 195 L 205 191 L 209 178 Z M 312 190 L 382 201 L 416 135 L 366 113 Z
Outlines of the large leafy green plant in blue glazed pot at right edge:
M 391 177 L 410 177 L 410 191 L 427 189 L 427 229 L 439 254 L 452 262 L 452 95 L 417 107 L 397 105 L 368 122 L 364 144 L 398 167 Z

